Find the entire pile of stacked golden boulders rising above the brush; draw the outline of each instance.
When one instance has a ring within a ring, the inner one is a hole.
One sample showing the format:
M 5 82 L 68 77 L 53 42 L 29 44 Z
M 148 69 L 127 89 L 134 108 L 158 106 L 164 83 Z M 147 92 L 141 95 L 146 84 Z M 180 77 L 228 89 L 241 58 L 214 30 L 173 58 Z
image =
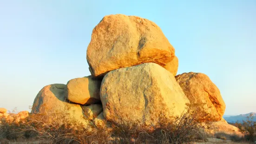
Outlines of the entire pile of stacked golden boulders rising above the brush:
M 85 125 L 152 126 L 197 104 L 207 116 L 200 120 L 222 120 L 225 103 L 217 86 L 203 73 L 176 76 L 175 49 L 150 20 L 105 16 L 92 31 L 86 58 L 92 75 L 45 86 L 33 113 L 68 112 Z

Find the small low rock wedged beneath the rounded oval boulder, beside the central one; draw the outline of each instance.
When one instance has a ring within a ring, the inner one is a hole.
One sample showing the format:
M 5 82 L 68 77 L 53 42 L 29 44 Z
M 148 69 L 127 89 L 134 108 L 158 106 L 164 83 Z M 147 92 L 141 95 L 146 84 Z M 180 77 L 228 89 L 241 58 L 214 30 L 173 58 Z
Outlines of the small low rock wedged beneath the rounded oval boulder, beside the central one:
M 98 117 L 98 115 L 103 111 L 103 108 L 100 104 L 92 104 L 89 106 L 83 106 L 83 110 L 86 118 L 92 120 L 93 118 Z

